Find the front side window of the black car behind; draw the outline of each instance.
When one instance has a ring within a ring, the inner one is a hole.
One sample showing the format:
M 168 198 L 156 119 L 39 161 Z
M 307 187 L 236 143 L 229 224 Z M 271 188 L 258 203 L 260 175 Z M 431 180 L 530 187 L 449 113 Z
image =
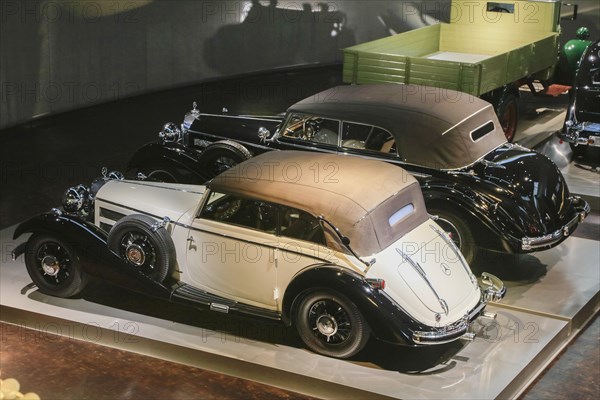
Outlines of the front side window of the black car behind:
M 283 129 L 283 137 L 338 145 L 340 121 L 307 114 L 292 114 Z

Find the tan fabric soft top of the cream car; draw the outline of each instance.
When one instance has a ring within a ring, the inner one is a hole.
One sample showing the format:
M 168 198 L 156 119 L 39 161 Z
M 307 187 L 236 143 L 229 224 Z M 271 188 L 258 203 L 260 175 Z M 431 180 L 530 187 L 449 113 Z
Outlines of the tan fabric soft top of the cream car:
M 386 248 L 428 217 L 414 177 L 395 165 L 352 156 L 270 151 L 208 186 L 323 216 L 364 256 Z M 392 218 L 406 205 L 411 212 L 398 221 Z

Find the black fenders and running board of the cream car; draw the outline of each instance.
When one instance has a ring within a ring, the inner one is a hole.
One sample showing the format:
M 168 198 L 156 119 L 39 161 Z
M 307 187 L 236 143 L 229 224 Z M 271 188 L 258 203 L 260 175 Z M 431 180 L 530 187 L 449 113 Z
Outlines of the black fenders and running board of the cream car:
M 323 287 L 344 293 L 363 310 L 371 332 L 379 340 L 415 346 L 414 333 L 431 330 L 413 320 L 385 292 L 374 289 L 364 278 L 333 265 L 317 265 L 298 274 L 285 293 L 284 311 L 281 315 L 259 307 L 231 301 L 174 280 L 164 284 L 158 283 L 110 251 L 107 246 L 106 232 L 75 215 L 65 214 L 59 210 L 37 215 L 19 224 L 13 238 L 18 239 L 26 233 L 49 234 L 61 238 L 75 250 L 81 266 L 91 276 L 173 303 L 219 311 L 213 307 L 218 304 L 226 306 L 228 313 L 283 320 L 286 325 L 290 326 L 292 324 L 291 315 L 294 313 L 294 307 L 297 306 L 298 295 L 307 289 L 314 290 Z M 28 242 L 21 243 L 13 251 L 13 257 L 17 258 L 27 252 L 27 244 Z M 483 307 L 473 310 L 469 322 L 480 316 L 482 312 Z M 433 330 L 431 331 L 433 332 Z M 464 334 L 464 330 L 457 332 L 456 337 L 462 334 Z

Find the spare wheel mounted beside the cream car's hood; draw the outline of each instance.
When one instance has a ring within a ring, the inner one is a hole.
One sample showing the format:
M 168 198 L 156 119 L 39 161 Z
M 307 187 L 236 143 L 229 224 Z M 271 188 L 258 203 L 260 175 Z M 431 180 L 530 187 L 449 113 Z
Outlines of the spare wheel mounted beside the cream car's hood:
M 123 217 L 108 233 L 108 248 L 156 282 L 163 282 L 175 267 L 175 245 L 164 227 L 147 215 Z

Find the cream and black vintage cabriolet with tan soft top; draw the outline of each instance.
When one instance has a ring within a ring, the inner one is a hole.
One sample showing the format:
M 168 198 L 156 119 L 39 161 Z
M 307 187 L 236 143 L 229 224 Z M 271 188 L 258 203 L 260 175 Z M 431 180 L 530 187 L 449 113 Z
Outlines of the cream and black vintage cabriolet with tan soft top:
M 370 335 L 406 345 L 473 339 L 504 296 L 481 283 L 429 218 L 417 181 L 390 164 L 269 152 L 206 186 L 105 175 L 63 208 L 20 224 L 41 292 L 80 293 L 95 276 L 150 296 L 295 325 L 339 358 Z M 481 285 L 481 287 L 480 287 Z

